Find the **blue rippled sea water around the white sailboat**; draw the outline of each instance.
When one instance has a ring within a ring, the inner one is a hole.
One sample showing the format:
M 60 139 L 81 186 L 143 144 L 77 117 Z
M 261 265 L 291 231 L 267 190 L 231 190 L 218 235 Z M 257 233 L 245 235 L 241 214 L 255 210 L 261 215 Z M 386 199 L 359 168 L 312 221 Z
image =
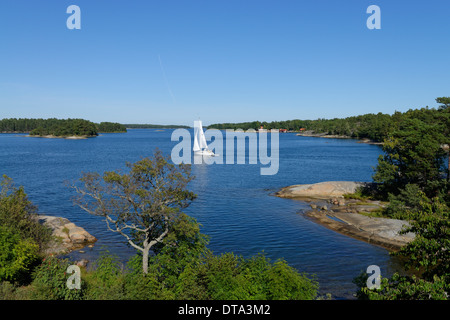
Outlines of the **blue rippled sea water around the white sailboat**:
M 0 134 L 0 174 L 23 185 L 41 214 L 62 216 L 98 238 L 95 246 L 74 252 L 72 258 L 95 259 L 108 249 L 127 261 L 134 249 L 107 230 L 100 217 L 73 205 L 68 187 L 82 172 L 126 170 L 126 162 L 151 156 L 155 148 L 170 154 L 178 143 L 172 130 L 132 129 L 85 140 L 44 139 Z M 262 251 L 272 260 L 285 259 L 300 272 L 314 275 L 320 293 L 351 299 L 352 283 L 369 265 L 382 276 L 399 269 L 387 250 L 326 229 L 302 213 L 308 204 L 281 199 L 278 189 L 321 181 L 371 181 L 381 148 L 356 140 L 299 137 L 280 134 L 279 171 L 260 174 L 257 164 L 193 165 L 190 184 L 198 198 L 185 212 L 201 223 L 216 254 L 234 252 L 249 257 Z M 270 145 L 270 144 L 269 144 Z M 224 158 L 225 160 L 225 158 Z M 225 162 L 225 161 L 224 161 Z

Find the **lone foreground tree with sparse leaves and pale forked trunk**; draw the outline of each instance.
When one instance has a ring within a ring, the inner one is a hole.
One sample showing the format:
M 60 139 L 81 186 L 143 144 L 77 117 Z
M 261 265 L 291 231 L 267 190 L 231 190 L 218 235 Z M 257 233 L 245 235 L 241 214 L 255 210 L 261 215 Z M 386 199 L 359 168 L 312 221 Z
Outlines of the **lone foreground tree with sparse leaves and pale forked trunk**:
M 130 171 L 123 174 L 83 174 L 82 186 L 73 186 L 79 195 L 75 203 L 104 217 L 110 231 L 141 252 L 147 273 L 150 250 L 174 231 L 181 210 L 196 197 L 186 188 L 193 177 L 190 166 L 176 166 L 160 151 L 127 166 Z

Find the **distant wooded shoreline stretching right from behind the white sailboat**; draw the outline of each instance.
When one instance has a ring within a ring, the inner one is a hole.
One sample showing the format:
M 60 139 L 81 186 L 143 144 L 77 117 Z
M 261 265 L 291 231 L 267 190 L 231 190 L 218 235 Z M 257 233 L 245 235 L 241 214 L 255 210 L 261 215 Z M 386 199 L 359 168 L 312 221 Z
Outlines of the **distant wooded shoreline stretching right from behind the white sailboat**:
M 441 104 L 438 109 L 421 108 L 408 110 L 406 112 L 395 112 L 393 115 L 377 113 L 352 116 L 347 118 L 317 119 L 317 120 L 286 120 L 272 122 L 242 122 L 242 123 L 218 123 L 208 126 L 215 129 L 287 129 L 289 131 L 305 130 L 315 133 L 325 133 L 330 135 L 347 136 L 357 139 L 370 139 L 376 142 L 382 142 L 390 133 L 400 128 L 401 124 L 407 119 L 418 119 L 427 124 L 433 125 L 439 123 L 439 120 L 445 114 L 450 102 L 449 98 L 437 98 L 436 101 Z M 441 123 L 441 126 L 444 124 Z

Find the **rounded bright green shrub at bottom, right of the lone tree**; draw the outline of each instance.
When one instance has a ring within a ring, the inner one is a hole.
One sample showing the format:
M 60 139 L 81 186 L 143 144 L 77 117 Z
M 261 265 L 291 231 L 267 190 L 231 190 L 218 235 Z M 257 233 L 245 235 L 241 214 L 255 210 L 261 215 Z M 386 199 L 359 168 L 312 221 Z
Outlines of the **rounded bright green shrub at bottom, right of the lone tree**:
M 247 259 L 233 253 L 210 254 L 197 270 L 197 274 L 189 270 L 188 285 L 181 287 L 198 292 L 194 297 L 202 299 L 206 296 L 213 300 L 308 300 L 317 296 L 318 285 L 314 280 L 284 260 L 271 263 L 263 254 Z M 200 288 L 204 288 L 204 293 L 200 294 Z

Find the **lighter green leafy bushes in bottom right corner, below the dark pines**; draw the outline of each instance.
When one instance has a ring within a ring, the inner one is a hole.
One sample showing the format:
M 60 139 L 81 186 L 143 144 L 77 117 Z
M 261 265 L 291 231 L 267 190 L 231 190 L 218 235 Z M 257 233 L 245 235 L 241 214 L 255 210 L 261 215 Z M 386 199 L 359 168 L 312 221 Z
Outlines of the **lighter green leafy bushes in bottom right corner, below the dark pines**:
M 355 279 L 359 286 L 359 299 L 370 300 L 448 300 L 450 292 L 450 210 L 447 205 L 434 199 L 430 201 L 423 193 L 417 194 L 420 210 L 406 210 L 411 227 L 404 232 L 414 232 L 414 241 L 400 251 L 392 253 L 405 259 L 406 271 L 416 275 L 395 273 L 382 278 L 381 287 L 366 287 L 367 274 Z M 411 274 L 411 273 L 410 273 Z

